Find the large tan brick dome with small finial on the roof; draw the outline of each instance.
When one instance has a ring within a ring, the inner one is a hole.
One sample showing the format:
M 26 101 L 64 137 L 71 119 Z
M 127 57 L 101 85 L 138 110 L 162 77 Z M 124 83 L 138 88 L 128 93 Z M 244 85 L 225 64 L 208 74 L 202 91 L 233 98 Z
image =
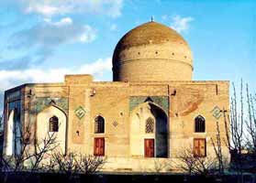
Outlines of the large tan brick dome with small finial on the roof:
M 113 55 L 114 81 L 190 81 L 193 64 L 184 38 L 170 27 L 148 22 L 128 31 Z

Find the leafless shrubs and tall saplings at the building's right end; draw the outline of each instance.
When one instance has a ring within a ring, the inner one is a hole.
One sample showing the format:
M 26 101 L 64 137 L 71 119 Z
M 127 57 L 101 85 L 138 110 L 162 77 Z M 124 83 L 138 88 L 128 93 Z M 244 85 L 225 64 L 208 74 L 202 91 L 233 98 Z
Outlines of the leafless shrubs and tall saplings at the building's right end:
M 244 172 L 256 169 L 256 94 L 251 94 L 248 84 L 243 88 L 241 81 L 239 96 L 233 84 L 233 95 L 230 99 L 230 111 L 221 110 L 225 125 L 225 135 L 220 135 L 220 124 L 217 121 L 216 138 L 211 138 L 215 158 L 193 155 L 193 149 L 187 148 L 179 156 L 183 162 L 182 169 L 188 174 L 223 176 L 225 171 L 236 173 L 242 182 Z M 245 94 L 244 94 L 245 91 Z M 224 145 L 223 145 L 224 143 Z M 231 162 L 223 155 L 222 146 L 227 146 Z

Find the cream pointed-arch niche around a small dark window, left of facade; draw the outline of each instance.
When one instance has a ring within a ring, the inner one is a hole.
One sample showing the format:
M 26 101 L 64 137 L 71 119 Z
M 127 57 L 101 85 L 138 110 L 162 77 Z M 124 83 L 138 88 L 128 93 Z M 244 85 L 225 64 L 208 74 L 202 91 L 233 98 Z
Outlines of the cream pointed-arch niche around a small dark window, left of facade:
M 52 132 L 50 130 L 50 123 L 52 118 L 58 119 L 58 131 Z M 66 132 L 67 132 L 67 116 L 58 107 L 50 105 L 43 109 L 37 116 L 37 143 L 40 145 L 42 140 L 45 139 L 48 134 L 56 135 L 56 144 L 58 145 L 55 150 L 61 150 L 63 154 L 66 153 Z

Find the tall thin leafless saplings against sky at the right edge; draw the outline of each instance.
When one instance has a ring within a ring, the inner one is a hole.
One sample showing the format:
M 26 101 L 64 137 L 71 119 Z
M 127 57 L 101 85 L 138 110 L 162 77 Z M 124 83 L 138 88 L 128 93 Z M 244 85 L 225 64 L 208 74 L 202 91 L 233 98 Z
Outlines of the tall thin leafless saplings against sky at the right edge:
M 239 91 L 237 96 L 233 83 L 230 113 L 223 110 L 226 130 L 226 138 L 223 141 L 228 145 L 231 154 L 231 170 L 238 173 L 239 181 L 242 182 L 243 172 L 250 167 L 255 168 L 253 161 L 256 160 L 256 94 L 250 93 L 248 84 L 244 90 L 242 81 Z M 219 154 L 219 145 L 216 146 L 216 153 Z

